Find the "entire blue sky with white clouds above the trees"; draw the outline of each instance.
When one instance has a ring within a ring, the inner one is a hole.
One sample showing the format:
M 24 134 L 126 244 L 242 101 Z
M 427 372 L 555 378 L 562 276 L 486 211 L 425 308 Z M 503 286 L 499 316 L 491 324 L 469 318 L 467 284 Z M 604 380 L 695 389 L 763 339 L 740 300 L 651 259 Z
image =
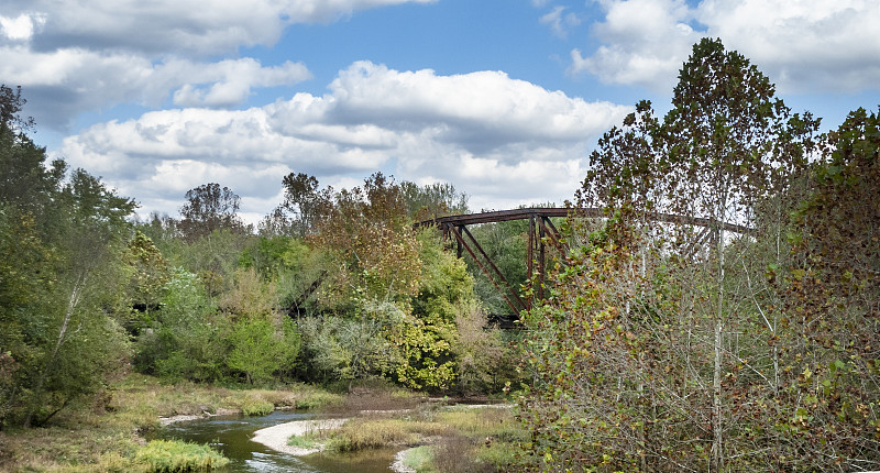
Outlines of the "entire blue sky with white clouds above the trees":
M 292 172 L 502 210 L 571 199 L 636 102 L 668 111 L 703 37 L 824 130 L 877 111 L 878 24 L 878 0 L 3 0 L 0 82 L 141 216 L 218 183 L 257 222 Z

